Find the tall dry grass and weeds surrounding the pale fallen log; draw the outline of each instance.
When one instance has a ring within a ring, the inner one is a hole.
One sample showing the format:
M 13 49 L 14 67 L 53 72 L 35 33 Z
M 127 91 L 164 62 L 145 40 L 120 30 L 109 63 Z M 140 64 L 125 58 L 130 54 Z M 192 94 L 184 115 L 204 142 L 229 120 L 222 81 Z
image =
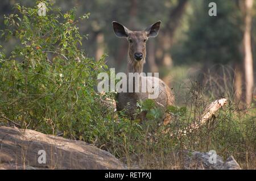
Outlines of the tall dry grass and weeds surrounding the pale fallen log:
M 216 81 L 216 78 L 210 78 Z M 221 77 L 218 79 L 226 81 Z M 110 129 L 112 140 L 108 141 L 108 146 L 100 147 L 110 151 L 130 168 L 183 169 L 183 150 L 201 152 L 215 150 L 224 160 L 233 155 L 242 169 L 255 169 L 255 104 L 241 108 L 241 104 L 233 102 L 233 93 L 229 89 L 232 83 L 228 81 L 218 84 L 215 90 L 211 89 L 212 91 L 208 86 L 210 81 L 206 81 L 205 85 L 197 81 L 187 82 L 189 85 L 182 83 L 183 87 L 180 86 L 183 92 L 176 92 L 176 96 L 179 96 L 178 94 L 185 96 L 179 98 L 180 102 L 177 105 L 182 106 L 175 107 L 178 111 L 171 112 L 174 117 L 171 124 L 154 127 L 151 123 L 154 120 L 139 124 L 130 121 L 127 117 L 119 116 L 119 122 L 112 123 L 113 127 L 119 128 Z M 222 96 L 229 101 L 207 124 L 183 137 L 162 133 L 166 127 L 170 128 L 170 132 L 175 132 L 198 121 L 204 108 L 211 101 L 220 98 L 216 96 L 216 92 L 224 92 Z

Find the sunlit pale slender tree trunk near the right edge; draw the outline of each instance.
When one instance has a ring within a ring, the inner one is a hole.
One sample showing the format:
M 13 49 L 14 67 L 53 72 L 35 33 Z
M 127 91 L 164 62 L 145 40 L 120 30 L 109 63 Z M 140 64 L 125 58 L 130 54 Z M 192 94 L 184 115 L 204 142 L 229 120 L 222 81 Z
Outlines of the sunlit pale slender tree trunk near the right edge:
M 243 34 L 243 64 L 245 68 L 245 100 L 250 104 L 253 97 L 253 54 L 251 52 L 251 9 L 253 0 L 244 0 L 245 31 Z

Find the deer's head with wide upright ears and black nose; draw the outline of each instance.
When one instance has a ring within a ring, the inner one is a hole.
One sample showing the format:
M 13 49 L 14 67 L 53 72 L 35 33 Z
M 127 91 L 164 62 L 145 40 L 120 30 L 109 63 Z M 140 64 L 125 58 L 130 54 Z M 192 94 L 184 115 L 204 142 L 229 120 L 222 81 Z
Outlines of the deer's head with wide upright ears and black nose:
M 115 35 L 117 37 L 125 37 L 129 41 L 128 69 L 129 66 L 135 69 L 129 72 L 142 72 L 141 69 L 143 69 L 146 57 L 146 41 L 149 37 L 156 37 L 158 35 L 160 23 L 161 21 L 158 21 L 144 31 L 131 31 L 118 22 L 112 22 Z

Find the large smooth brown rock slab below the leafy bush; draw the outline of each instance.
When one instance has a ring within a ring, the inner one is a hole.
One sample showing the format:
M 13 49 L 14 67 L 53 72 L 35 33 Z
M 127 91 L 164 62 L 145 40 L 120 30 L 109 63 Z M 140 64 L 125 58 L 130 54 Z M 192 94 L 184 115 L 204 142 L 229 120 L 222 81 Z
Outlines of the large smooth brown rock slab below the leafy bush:
M 41 153 L 39 150 L 43 150 Z M 43 155 L 45 151 L 46 163 Z M 39 163 L 40 162 L 40 163 Z M 107 151 L 82 141 L 0 127 L 0 169 L 126 169 Z

